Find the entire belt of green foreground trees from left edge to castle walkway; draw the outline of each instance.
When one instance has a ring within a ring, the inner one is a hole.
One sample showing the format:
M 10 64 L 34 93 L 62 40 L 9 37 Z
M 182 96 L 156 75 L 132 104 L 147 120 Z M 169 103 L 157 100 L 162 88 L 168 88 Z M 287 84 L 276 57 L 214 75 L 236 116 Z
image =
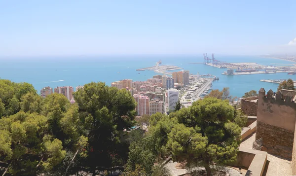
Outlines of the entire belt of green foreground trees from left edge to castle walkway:
M 37 95 L 28 83 L 0 79 L 0 173 L 13 176 L 98 174 L 114 168 L 124 176 L 170 176 L 162 162 L 172 155 L 188 167 L 235 160 L 244 115 L 230 106 L 229 91 L 170 115 L 145 115 L 135 126 L 131 94 L 91 82 L 74 93 Z M 180 106 L 179 106 L 180 105 Z M 3 169 L 4 168 L 4 169 Z

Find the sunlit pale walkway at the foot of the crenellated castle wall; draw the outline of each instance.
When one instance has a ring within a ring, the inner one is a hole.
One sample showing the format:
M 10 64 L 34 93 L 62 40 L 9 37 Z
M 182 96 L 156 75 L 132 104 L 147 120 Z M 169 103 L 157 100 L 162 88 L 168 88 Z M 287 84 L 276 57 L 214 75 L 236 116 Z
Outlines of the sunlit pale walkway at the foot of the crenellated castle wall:
M 243 141 L 240 147 L 252 148 L 256 133 Z M 263 176 L 292 176 L 291 161 L 280 156 L 267 154 Z

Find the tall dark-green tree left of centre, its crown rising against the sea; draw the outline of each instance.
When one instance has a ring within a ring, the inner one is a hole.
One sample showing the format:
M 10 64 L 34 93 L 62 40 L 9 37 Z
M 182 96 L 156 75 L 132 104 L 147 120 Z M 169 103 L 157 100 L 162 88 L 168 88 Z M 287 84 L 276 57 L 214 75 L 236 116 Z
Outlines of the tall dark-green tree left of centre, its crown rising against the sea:
M 88 138 L 88 155 L 83 162 L 93 172 L 122 166 L 127 160 L 128 146 L 121 142 L 123 130 L 134 126 L 136 103 L 125 89 L 91 82 L 74 93 L 78 105 L 80 128 Z M 100 158 L 100 160 L 98 160 Z

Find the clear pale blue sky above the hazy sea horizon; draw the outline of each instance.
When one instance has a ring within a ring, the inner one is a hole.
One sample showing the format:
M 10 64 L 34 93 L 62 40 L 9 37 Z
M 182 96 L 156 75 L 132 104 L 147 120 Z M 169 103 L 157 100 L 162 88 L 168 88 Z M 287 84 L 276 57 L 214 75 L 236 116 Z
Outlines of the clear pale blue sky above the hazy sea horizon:
M 296 54 L 296 0 L 0 0 L 0 56 Z

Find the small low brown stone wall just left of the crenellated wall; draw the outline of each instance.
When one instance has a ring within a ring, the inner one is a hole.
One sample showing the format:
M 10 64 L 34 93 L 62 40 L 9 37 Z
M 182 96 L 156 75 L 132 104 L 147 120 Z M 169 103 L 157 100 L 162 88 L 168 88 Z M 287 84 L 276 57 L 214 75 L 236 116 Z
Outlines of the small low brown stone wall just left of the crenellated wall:
M 257 97 L 249 97 L 241 100 L 242 108 L 241 110 L 246 114 L 250 116 L 257 116 Z

